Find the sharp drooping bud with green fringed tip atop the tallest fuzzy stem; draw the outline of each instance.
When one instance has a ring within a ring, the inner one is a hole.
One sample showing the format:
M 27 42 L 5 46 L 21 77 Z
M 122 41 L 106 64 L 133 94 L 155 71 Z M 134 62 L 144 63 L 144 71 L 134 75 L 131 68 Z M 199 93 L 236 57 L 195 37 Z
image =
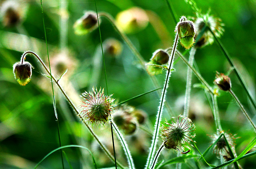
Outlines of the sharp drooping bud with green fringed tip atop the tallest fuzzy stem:
M 180 39 L 180 44 L 189 49 L 195 43 L 195 34 L 196 29 L 194 28 L 194 24 L 192 21 L 187 20 L 186 17 L 182 17 L 181 21 L 177 24 L 175 32 L 178 32 L 178 36 Z

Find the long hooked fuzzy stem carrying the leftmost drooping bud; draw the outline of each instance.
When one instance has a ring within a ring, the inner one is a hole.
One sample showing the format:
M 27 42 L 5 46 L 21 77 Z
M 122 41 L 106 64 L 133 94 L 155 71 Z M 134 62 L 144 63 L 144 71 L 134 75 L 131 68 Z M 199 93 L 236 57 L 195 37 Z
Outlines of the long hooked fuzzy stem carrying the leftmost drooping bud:
M 70 104 L 70 106 L 73 108 L 73 110 L 76 112 L 76 114 L 79 116 L 80 119 L 82 119 L 82 117 L 79 115 L 78 110 L 76 109 L 76 106 L 72 103 L 72 101 L 69 99 L 68 95 L 66 94 L 66 92 L 64 92 L 64 90 L 62 89 L 62 87 L 60 86 L 60 84 L 58 83 L 58 81 L 55 79 L 55 77 L 53 77 L 50 73 L 50 71 L 48 70 L 48 68 L 45 66 L 44 62 L 42 61 L 42 59 L 34 52 L 32 51 L 27 51 L 23 54 L 23 57 L 26 56 L 27 54 L 33 54 L 38 61 L 42 64 L 42 66 L 44 67 L 44 69 L 46 70 L 46 72 L 49 74 L 49 76 L 52 77 L 53 81 L 56 83 L 56 85 L 59 87 L 60 92 L 64 95 L 64 97 L 67 99 L 68 103 Z M 83 119 L 82 119 L 83 120 Z M 106 155 L 112 160 L 114 160 L 114 157 L 110 154 L 110 152 L 108 151 L 108 149 L 100 142 L 98 136 L 92 131 L 92 129 L 86 124 L 85 121 L 83 121 L 83 123 L 85 124 L 85 126 L 87 127 L 87 129 L 89 130 L 89 132 L 92 134 L 92 136 L 96 139 L 96 141 L 100 144 L 100 147 L 102 148 L 102 150 L 106 153 Z M 116 164 L 122 168 L 125 169 L 123 165 L 121 165 L 118 161 L 116 162 Z

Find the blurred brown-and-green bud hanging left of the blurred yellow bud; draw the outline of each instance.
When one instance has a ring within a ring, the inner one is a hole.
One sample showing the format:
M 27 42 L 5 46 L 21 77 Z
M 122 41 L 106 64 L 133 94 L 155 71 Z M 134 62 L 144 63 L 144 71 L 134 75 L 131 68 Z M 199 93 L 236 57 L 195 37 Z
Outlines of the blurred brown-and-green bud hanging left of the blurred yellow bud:
M 98 27 L 97 14 L 94 11 L 85 12 L 81 18 L 76 20 L 73 27 L 77 35 L 84 35 L 92 32 Z

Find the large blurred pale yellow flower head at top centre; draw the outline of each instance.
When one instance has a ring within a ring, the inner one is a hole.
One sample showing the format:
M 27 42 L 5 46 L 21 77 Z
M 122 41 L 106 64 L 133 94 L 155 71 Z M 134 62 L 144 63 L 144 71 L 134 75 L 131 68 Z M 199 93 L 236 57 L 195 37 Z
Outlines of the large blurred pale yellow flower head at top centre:
M 148 26 L 147 13 L 138 7 L 122 11 L 116 16 L 116 23 L 125 33 L 136 33 Z

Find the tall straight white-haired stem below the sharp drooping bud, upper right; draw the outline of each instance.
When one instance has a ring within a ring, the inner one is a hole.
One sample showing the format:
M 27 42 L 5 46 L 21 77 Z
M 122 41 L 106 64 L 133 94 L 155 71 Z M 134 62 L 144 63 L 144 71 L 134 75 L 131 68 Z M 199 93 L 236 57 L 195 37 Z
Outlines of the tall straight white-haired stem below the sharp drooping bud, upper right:
M 178 33 L 176 33 L 175 35 L 175 41 L 174 41 L 174 44 L 173 44 L 173 48 L 172 48 L 172 53 L 171 53 L 171 61 L 169 63 L 169 68 L 168 68 L 168 71 L 166 73 L 166 78 L 165 78 L 165 83 L 164 83 L 164 89 L 162 91 L 162 97 L 160 99 L 160 105 L 158 107 L 158 112 L 157 112 L 157 115 L 156 115 L 156 123 L 155 123 L 155 130 L 154 130 L 154 135 L 153 135 L 153 138 L 152 138 L 152 144 L 151 144 L 151 147 L 150 147 L 150 152 L 149 152 L 149 155 L 148 155 L 148 159 L 147 159 L 147 163 L 146 163 L 146 167 L 145 169 L 148 169 L 149 166 L 151 165 L 151 162 L 153 160 L 153 154 L 155 154 L 155 151 L 156 151 L 156 143 L 157 143 L 157 136 L 158 136 L 158 132 L 159 132 L 159 125 L 160 125 L 160 121 L 161 121 L 161 116 L 162 116 L 162 108 L 164 106 L 164 98 L 165 98 L 165 94 L 166 94 L 166 90 L 168 88 L 168 81 L 169 81 L 169 75 L 171 73 L 171 68 L 172 68 L 172 65 L 173 65 L 173 59 L 174 59 L 174 55 L 175 55 L 175 50 L 177 48 L 177 45 L 178 45 Z

